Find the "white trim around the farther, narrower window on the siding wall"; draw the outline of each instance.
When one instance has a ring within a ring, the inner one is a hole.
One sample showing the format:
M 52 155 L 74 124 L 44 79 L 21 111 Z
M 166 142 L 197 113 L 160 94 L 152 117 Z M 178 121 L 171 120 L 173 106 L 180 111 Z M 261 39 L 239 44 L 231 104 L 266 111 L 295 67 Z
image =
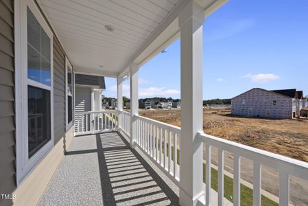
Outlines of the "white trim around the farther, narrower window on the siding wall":
M 72 126 L 73 126 L 73 117 L 71 119 L 71 122 L 68 122 L 69 120 L 69 113 L 68 113 L 68 98 L 67 98 L 67 95 L 69 95 L 67 93 L 67 82 L 68 82 L 68 75 L 67 75 L 67 70 L 68 68 L 71 68 L 71 89 L 72 89 L 72 94 L 71 94 L 71 98 L 72 98 L 72 101 L 73 101 L 73 93 L 75 92 L 75 89 L 73 89 L 74 87 L 74 84 L 73 84 L 73 66 L 71 65 L 71 62 L 69 62 L 69 59 L 67 58 L 67 56 L 65 56 L 65 128 L 66 128 L 66 131 L 68 131 Z M 74 105 L 73 105 L 73 102 L 72 102 L 72 110 L 74 111 Z M 72 111 L 72 115 L 74 114 Z

